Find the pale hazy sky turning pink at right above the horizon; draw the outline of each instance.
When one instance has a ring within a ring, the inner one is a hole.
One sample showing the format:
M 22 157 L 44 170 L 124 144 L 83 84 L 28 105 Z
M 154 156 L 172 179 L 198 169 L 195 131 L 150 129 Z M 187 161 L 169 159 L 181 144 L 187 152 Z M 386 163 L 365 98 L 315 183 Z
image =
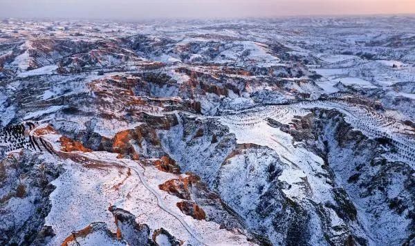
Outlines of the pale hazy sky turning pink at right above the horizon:
M 168 19 L 415 14 L 415 0 L 0 0 L 0 17 Z

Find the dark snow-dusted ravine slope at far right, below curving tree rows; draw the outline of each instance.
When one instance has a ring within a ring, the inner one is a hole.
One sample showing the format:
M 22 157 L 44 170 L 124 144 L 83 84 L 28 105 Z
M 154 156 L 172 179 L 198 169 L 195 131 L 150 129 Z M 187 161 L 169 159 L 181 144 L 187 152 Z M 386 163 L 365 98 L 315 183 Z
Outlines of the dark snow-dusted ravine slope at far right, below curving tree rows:
M 299 122 L 294 122 L 295 129 L 282 129 L 325 160 L 339 187 L 335 189 L 339 203 L 333 209 L 346 221 L 366 221 L 361 223 L 375 243 L 412 240 L 414 171 L 404 162 L 387 159 L 393 143 L 367 138 L 335 110 L 317 110 Z

